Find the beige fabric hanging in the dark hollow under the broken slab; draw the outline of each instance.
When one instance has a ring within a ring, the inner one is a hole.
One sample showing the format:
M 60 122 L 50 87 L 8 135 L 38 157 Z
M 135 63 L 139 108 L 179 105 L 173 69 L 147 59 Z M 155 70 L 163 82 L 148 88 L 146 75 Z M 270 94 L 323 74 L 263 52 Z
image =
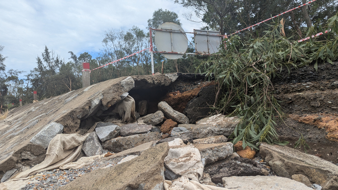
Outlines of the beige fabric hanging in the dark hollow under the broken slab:
M 117 103 L 113 112 L 120 115 L 120 117 L 122 118 L 122 123 L 136 121 L 134 98 L 128 95 L 123 100 Z

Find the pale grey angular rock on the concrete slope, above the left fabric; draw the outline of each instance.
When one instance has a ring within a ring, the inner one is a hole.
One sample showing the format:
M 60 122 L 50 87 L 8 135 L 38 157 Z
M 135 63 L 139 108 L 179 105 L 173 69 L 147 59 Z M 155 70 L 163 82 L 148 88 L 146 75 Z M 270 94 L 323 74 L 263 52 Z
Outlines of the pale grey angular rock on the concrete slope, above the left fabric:
M 57 135 L 63 132 L 63 125 L 52 122 L 46 127 L 40 130 L 30 142 L 33 144 L 40 145 L 45 149 L 48 147 L 49 142 Z

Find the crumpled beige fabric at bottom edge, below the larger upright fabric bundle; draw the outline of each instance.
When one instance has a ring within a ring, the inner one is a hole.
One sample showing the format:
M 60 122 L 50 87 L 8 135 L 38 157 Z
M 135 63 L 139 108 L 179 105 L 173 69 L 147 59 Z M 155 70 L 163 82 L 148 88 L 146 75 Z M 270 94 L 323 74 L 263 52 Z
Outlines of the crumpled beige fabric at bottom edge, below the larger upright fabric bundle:
M 209 186 L 200 184 L 194 180 L 182 176 L 174 181 L 164 181 L 165 190 L 229 190 L 227 188 L 220 188 L 216 186 Z

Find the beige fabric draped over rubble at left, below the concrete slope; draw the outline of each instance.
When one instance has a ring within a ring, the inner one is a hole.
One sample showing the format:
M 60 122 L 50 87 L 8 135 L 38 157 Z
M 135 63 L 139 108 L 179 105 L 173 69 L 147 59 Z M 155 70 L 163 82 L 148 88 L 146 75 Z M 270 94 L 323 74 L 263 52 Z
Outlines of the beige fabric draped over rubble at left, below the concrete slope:
M 57 134 L 50 142 L 46 152 L 46 158 L 33 168 L 20 172 L 11 179 L 25 178 L 46 170 L 54 170 L 61 165 L 75 161 L 82 149 L 86 135 L 80 134 Z

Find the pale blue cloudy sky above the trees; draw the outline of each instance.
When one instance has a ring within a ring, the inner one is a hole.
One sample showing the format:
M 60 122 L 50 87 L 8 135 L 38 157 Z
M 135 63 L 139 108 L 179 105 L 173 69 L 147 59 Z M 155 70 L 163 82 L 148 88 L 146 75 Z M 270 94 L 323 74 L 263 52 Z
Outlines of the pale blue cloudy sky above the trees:
M 0 0 L 0 45 L 7 57 L 6 70 L 26 71 L 23 77 L 36 67 L 45 45 L 66 62 L 69 51 L 77 56 L 88 52 L 94 58 L 102 49 L 104 31 L 133 25 L 146 30 L 147 20 L 159 8 L 176 12 L 185 31 L 204 26 L 186 20 L 183 14 L 193 10 L 173 0 Z

